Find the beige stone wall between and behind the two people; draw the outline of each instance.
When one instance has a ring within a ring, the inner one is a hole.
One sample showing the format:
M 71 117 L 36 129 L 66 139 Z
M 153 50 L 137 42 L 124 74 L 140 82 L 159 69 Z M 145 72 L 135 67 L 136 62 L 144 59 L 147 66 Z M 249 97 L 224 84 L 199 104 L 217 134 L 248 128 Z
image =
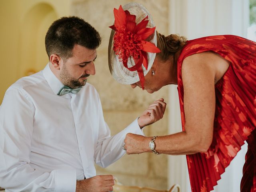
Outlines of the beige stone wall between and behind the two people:
M 100 94 L 104 117 L 112 134 L 116 134 L 135 120 L 158 98 L 168 102 L 168 89 L 149 94 L 139 88 L 118 84 L 108 70 L 108 40 L 114 22 L 113 8 L 128 3 L 127 0 L 73 0 L 71 14 L 80 16 L 98 30 L 102 44 L 98 48 L 95 62 L 96 75 L 89 78 Z M 137 0 L 149 10 L 154 18 L 156 29 L 167 34 L 168 0 Z M 156 71 L 157 73 L 157 71 Z M 144 128 L 146 136 L 166 135 L 168 132 L 168 108 L 162 120 Z M 157 189 L 167 188 L 167 156 L 152 153 L 125 155 L 108 168 L 97 166 L 97 174 L 114 174 L 124 185 L 147 186 Z

